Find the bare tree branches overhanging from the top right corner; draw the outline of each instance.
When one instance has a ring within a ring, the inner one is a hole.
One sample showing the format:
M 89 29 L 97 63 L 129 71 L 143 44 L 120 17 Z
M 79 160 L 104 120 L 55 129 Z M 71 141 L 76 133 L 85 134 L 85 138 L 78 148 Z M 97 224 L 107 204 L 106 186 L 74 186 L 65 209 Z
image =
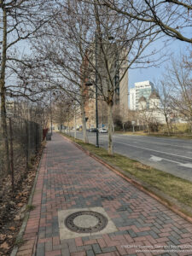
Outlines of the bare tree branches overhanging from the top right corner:
M 102 0 L 120 15 L 141 20 L 150 27 L 156 26 L 161 32 L 178 40 L 192 43 L 190 29 L 192 26 L 192 1 L 179 0 L 144 0 L 144 1 L 113 1 Z

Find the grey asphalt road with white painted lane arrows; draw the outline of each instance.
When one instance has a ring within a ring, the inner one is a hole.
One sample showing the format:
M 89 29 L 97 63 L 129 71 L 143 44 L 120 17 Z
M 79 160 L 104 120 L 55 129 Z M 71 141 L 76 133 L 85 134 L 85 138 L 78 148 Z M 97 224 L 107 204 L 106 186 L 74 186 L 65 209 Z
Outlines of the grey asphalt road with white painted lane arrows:
M 77 137 L 82 139 L 82 132 L 77 131 Z M 88 137 L 90 143 L 96 143 L 95 132 L 88 132 Z M 99 143 L 108 148 L 108 134 L 99 133 Z M 115 133 L 113 148 L 116 153 L 192 181 L 192 140 Z

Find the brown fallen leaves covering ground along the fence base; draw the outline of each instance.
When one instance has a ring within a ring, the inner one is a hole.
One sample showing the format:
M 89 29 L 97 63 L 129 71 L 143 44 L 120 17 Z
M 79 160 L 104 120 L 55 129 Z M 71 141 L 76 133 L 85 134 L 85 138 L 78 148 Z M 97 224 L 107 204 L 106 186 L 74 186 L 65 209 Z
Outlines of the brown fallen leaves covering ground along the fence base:
M 7 176 L 0 180 L 0 256 L 10 255 L 12 247 L 15 245 L 15 238 L 20 230 L 22 218 L 26 213 L 26 205 L 39 160 L 40 154 L 34 168 L 27 173 L 25 173 L 25 166 L 23 167 L 23 172 L 21 172 L 21 167 L 20 172 L 15 171 L 14 197 L 11 191 L 11 177 Z M 20 176 L 20 173 L 25 173 L 25 178 Z

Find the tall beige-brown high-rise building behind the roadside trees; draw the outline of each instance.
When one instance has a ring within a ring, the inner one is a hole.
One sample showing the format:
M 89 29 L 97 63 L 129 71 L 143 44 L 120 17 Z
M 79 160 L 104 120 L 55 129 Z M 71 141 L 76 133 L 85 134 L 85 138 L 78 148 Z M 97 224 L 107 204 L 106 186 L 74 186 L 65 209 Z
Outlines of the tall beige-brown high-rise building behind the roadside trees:
M 108 84 L 108 69 L 106 67 L 105 58 L 101 49 L 97 51 L 97 64 L 96 70 L 98 73 L 97 92 L 98 92 L 98 119 L 99 126 L 108 125 L 108 108 L 107 103 L 103 100 L 104 96 L 108 96 L 108 90 L 113 91 L 113 108 L 120 113 L 126 113 L 128 111 L 128 71 L 126 70 L 127 61 L 122 61 L 123 55 L 119 53 L 116 44 L 111 44 L 110 48 L 106 50 L 108 58 L 109 72 L 113 80 L 113 85 Z M 120 55 L 120 56 L 119 56 Z M 122 56 L 121 56 L 122 55 Z M 83 63 L 82 70 L 86 74 L 82 82 L 86 84 L 86 81 L 91 81 L 94 84 L 95 72 L 95 53 L 90 50 L 87 53 L 87 59 L 89 61 Z M 125 73 L 123 79 L 121 77 Z M 96 127 L 96 101 L 95 101 L 95 86 L 91 89 L 87 88 L 84 91 L 86 95 L 86 101 L 84 104 L 85 115 L 87 118 L 87 127 Z M 117 113 L 117 112 L 116 112 Z

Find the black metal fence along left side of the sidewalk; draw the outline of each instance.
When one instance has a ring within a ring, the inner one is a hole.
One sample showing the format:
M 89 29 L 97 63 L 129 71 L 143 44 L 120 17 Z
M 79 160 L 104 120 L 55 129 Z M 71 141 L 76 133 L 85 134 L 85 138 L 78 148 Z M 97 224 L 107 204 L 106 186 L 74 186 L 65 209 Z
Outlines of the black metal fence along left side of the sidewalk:
M 4 147 L 5 140 L 0 125 L 0 177 L 10 175 L 14 189 L 35 160 L 41 147 L 43 131 L 38 123 L 12 116 L 7 118 L 7 133 L 9 154 Z

